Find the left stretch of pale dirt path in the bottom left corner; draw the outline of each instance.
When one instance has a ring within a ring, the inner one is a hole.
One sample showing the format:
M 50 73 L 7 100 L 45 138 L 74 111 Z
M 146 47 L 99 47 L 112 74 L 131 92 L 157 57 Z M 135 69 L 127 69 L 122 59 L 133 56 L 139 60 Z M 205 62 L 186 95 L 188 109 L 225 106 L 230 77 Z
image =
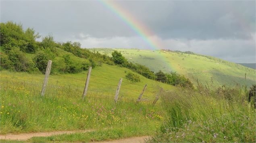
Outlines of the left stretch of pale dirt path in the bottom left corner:
M 19 140 L 25 141 L 30 139 L 31 137 L 48 137 L 51 135 L 60 135 L 65 133 L 85 133 L 92 130 L 82 130 L 82 131 L 53 131 L 53 132 L 42 132 L 42 133 L 22 133 L 22 134 L 7 134 L 7 135 L 0 135 L 0 139 L 11 139 L 11 140 Z

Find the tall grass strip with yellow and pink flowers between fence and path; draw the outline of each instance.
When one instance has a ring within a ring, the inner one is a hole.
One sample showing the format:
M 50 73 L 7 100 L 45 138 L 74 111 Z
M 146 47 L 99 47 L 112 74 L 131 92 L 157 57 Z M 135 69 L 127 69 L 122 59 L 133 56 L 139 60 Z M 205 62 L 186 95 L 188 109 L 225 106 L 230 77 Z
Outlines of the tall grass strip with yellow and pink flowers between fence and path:
M 142 135 L 153 133 L 160 124 L 162 110 L 149 103 L 88 93 L 85 100 L 75 89 L 48 86 L 40 96 L 42 84 L 1 79 L 0 133 L 26 133 L 83 129 L 125 129 L 138 126 Z

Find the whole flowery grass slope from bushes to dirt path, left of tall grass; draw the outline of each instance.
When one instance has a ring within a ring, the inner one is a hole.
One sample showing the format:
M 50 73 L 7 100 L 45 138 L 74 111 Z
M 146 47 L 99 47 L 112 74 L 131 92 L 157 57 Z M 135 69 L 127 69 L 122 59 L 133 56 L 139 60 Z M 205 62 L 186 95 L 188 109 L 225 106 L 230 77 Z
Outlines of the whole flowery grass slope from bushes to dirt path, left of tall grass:
M 139 83 L 129 83 L 125 71 L 130 70 L 105 64 L 93 68 L 85 100 L 87 71 L 50 75 L 44 97 L 40 95 L 43 74 L 1 71 L 0 134 L 83 129 L 108 129 L 117 133 L 117 138 L 152 134 L 164 115 L 160 102 L 152 105 L 155 89 L 175 87 L 142 76 Z M 123 83 L 114 103 L 120 78 Z M 143 102 L 136 103 L 145 84 Z

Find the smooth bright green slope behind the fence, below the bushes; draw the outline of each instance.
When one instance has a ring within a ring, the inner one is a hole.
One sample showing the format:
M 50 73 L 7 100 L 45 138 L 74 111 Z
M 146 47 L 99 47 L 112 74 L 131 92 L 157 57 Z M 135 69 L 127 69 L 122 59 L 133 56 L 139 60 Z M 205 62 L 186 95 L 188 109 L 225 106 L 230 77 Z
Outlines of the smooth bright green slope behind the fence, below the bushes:
M 164 89 L 174 88 L 167 84 L 146 79 L 141 75 L 139 75 L 141 79 L 139 83 L 131 83 L 125 78 L 125 72 L 128 71 L 132 72 L 127 68 L 110 66 L 106 64 L 93 68 L 89 80 L 89 93 L 87 96 L 91 96 L 90 93 L 97 93 L 98 95 L 106 95 L 114 100 L 114 95 L 116 93 L 117 84 L 119 83 L 120 78 L 123 78 L 123 82 L 121 84 L 119 98 L 136 99 L 146 84 L 148 87 L 143 95 L 143 98 L 148 100 L 155 98 L 153 96 L 155 93 L 154 89 L 156 89 L 155 87 L 160 86 L 164 87 Z M 12 73 L 9 71 L 1 71 L 0 74 L 2 81 L 24 80 L 24 82 L 35 83 L 40 88 L 42 87 L 42 83 L 44 81 L 43 74 Z M 58 88 L 75 89 L 80 92 L 80 94 L 77 96 L 82 96 L 86 77 L 87 71 L 78 74 L 50 75 L 48 85 Z M 2 82 L 2 84 L 4 84 L 4 82 Z M 46 94 L 48 92 L 50 91 L 46 90 Z

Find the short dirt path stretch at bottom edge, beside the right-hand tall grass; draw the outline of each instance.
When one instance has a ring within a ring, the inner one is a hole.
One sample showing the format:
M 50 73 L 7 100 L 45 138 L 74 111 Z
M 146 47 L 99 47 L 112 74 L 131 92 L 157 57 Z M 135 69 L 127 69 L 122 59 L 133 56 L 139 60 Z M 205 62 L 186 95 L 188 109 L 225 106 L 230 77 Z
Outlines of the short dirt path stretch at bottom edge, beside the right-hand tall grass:
M 113 141 L 96 141 L 96 142 L 90 142 L 90 143 L 144 143 L 144 139 L 148 139 L 148 136 L 142 136 L 142 137 L 130 137 L 126 139 L 117 139 Z

